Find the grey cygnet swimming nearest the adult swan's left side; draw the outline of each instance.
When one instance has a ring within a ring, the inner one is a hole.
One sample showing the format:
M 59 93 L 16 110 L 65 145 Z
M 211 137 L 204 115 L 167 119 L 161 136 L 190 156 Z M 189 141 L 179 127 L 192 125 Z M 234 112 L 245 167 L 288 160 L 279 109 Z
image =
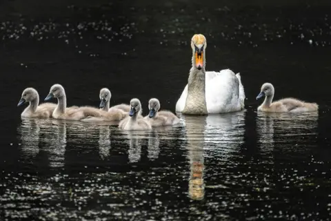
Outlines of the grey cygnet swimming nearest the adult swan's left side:
M 148 102 L 149 115 L 145 117 L 152 126 L 166 126 L 179 124 L 179 118 L 170 111 L 159 111 L 160 102 L 157 98 L 152 98 Z

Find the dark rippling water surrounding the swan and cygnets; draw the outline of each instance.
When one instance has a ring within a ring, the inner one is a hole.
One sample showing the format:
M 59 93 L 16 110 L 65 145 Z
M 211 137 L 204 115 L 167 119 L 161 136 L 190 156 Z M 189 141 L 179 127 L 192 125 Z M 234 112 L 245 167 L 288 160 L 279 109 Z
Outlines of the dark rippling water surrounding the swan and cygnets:
M 1 220 L 330 219 L 328 4 L 2 4 Z M 245 111 L 148 133 L 20 118 L 22 90 L 55 83 L 68 105 L 97 106 L 107 86 L 112 104 L 174 111 L 198 32 L 208 70 L 241 73 Z M 265 81 L 319 113 L 257 113 Z

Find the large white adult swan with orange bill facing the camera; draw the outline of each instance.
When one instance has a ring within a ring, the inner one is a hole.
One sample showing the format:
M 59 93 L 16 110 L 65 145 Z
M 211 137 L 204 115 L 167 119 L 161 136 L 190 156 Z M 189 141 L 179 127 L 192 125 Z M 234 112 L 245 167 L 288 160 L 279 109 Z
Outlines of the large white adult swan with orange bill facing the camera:
M 232 70 L 220 72 L 205 71 L 205 48 L 207 41 L 203 35 L 194 35 L 192 68 L 181 97 L 176 104 L 176 112 L 187 115 L 208 115 L 241 111 L 244 107 L 245 92 L 240 74 Z

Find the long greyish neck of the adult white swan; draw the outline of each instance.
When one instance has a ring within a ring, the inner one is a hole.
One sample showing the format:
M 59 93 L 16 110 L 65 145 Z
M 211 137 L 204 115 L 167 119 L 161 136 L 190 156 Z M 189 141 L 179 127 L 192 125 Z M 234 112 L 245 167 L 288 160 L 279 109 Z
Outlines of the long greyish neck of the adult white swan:
M 188 77 L 188 96 L 186 97 L 183 113 L 208 115 L 207 104 L 205 102 L 205 59 L 203 59 L 203 68 L 201 70 L 198 70 L 194 63 L 193 57 L 193 66 Z

